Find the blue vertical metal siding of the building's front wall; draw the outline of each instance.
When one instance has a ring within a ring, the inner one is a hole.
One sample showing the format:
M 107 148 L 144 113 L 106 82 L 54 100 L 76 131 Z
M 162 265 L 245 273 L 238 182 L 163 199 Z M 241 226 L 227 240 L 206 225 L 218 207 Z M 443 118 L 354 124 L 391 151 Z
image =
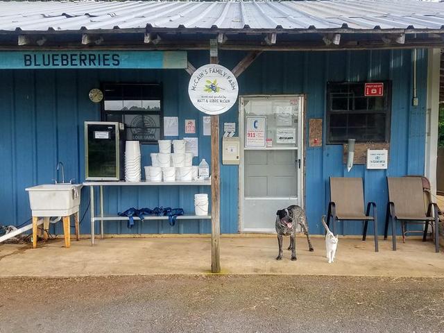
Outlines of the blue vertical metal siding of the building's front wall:
M 221 65 L 232 68 L 245 53 L 222 51 Z M 418 50 L 418 97 L 420 105 L 411 106 L 412 54 L 410 50 L 269 52 L 263 53 L 239 77 L 239 94 L 307 94 L 305 137 L 311 118 L 325 120 L 327 81 L 393 80 L 391 148 L 387 171 L 366 170 L 355 165 L 348 173 L 343 165 L 341 145 L 306 147 L 305 205 L 311 233 L 321 234 L 321 215 L 329 198 L 328 178 L 364 178 L 366 200 L 377 203 L 379 232 L 383 232 L 387 201 L 386 176 L 422 174 L 425 157 L 425 103 L 427 89 L 427 52 Z M 195 67 L 207 62 L 207 53 L 189 52 Z M 199 137 L 199 158 L 210 161 L 210 137 L 203 136 L 203 114 L 194 109 L 187 96 L 189 75 L 183 70 L 2 70 L 0 80 L 0 209 L 3 221 L 15 223 L 30 217 L 24 189 L 56 178 L 56 164 L 65 163 L 65 177 L 83 181 L 83 122 L 99 120 L 100 107 L 87 97 L 89 89 L 101 82 L 161 82 L 164 85 L 164 115 L 179 117 L 179 136 Z M 221 115 L 223 122 L 238 122 L 238 105 Z M 185 119 L 196 119 L 196 135 L 185 135 Z M 324 121 L 325 133 L 325 121 Z M 325 142 L 325 137 L 323 138 Z M 157 146 L 142 146 L 142 164 Z M 238 231 L 238 167 L 221 166 L 221 231 Z M 193 194 L 209 187 L 131 187 L 105 188 L 105 212 L 116 214 L 128 207 L 156 205 L 194 210 Z M 81 214 L 88 204 L 89 191 L 82 191 Z M 60 223 L 58 223 L 60 224 Z M 370 225 L 369 232 L 373 226 Z M 61 225 L 56 226 L 61 233 Z M 89 214 L 81 225 L 89 232 Z M 132 230 L 125 222 L 105 223 L 105 232 L 119 233 L 207 233 L 209 221 L 178 221 L 171 228 L 167 221 L 136 222 Z M 341 223 L 343 234 L 361 233 L 361 223 Z

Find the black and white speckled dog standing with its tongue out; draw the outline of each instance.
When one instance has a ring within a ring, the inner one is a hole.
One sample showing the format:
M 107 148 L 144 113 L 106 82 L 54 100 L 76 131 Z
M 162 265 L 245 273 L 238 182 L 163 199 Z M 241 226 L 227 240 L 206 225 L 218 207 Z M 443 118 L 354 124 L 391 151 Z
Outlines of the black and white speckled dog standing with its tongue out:
M 314 251 L 311 246 L 310 234 L 308 232 L 307 216 L 304 210 L 297 205 L 291 205 L 276 212 L 276 232 L 278 232 L 279 255 L 277 260 L 282 260 L 282 236 L 290 236 L 291 260 L 296 260 L 296 223 L 302 227 L 302 231 L 307 235 L 308 248 Z

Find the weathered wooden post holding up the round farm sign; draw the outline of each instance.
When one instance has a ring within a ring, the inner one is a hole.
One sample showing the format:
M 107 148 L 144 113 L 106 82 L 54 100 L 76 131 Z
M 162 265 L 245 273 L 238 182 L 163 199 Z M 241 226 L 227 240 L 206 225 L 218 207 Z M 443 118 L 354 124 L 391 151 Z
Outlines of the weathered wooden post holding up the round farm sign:
M 211 64 L 219 58 L 210 57 Z M 211 116 L 211 271 L 221 271 L 221 187 L 219 166 L 219 115 Z

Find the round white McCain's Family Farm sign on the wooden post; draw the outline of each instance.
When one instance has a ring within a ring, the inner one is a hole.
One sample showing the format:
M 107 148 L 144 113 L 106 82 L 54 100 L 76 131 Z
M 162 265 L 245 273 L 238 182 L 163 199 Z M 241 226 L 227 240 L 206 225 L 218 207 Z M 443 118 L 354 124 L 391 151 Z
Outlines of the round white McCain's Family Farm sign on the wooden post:
M 221 114 L 237 101 L 239 86 L 234 74 L 221 65 L 203 65 L 194 71 L 188 85 L 191 103 L 206 114 Z

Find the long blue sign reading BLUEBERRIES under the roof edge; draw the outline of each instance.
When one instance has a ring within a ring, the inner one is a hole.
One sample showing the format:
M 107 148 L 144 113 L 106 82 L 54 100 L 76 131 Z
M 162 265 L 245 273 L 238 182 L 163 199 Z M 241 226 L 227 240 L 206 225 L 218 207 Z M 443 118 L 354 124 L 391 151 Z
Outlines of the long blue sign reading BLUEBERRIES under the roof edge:
M 0 69 L 187 68 L 186 51 L 3 51 Z

